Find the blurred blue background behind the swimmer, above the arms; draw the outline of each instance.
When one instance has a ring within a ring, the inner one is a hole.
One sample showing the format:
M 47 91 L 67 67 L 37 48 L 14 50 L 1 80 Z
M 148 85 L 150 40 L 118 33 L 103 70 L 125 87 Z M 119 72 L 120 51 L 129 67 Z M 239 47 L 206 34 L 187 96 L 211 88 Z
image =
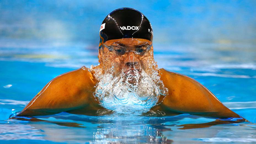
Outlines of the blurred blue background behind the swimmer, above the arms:
M 100 25 L 121 7 L 150 20 L 160 68 L 196 79 L 256 122 L 256 1 L 235 0 L 0 0 L 0 119 L 59 74 L 97 65 Z

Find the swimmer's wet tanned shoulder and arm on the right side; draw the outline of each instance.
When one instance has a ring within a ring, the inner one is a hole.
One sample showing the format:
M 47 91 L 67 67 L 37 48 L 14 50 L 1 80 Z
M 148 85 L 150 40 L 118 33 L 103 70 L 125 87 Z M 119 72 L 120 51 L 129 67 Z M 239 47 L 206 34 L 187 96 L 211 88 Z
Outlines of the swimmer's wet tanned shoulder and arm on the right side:
M 160 69 L 160 76 L 169 90 L 161 104 L 165 111 L 216 118 L 241 118 L 196 80 L 164 69 Z

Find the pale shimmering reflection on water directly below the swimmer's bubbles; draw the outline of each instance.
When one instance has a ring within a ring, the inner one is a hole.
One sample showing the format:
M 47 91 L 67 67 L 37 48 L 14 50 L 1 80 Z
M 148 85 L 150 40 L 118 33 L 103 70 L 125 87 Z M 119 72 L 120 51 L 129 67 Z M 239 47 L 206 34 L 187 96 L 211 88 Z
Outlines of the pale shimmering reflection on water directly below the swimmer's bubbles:
M 103 123 L 94 132 L 95 143 L 170 143 L 161 134 L 158 125 L 152 125 L 149 119 L 138 116 L 110 116 L 111 123 Z M 132 122 L 131 122 L 132 121 Z M 167 129 L 162 127 L 163 129 Z M 169 129 L 170 130 L 170 129 Z

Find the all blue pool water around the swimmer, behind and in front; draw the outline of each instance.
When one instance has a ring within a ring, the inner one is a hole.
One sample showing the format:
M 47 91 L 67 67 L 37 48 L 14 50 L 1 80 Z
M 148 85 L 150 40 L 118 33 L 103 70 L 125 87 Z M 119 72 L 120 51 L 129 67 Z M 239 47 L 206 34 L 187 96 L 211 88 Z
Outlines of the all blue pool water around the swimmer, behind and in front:
M 85 128 L 6 120 L 59 74 L 97 65 L 100 25 L 120 7 L 150 20 L 160 68 L 196 79 L 256 123 L 255 1 L 0 0 L 0 143 L 255 143 L 252 123 L 178 129 L 215 120 L 188 114 L 38 117 Z

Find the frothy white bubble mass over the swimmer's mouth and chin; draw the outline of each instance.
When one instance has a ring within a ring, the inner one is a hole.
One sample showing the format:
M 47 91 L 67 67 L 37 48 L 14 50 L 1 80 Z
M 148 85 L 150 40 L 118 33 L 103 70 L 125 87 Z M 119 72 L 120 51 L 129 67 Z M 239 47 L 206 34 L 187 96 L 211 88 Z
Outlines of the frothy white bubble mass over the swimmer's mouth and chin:
M 140 115 L 158 102 L 159 87 L 142 68 L 123 69 L 119 76 L 114 76 L 113 67 L 104 74 L 97 73 L 103 71 L 100 69 L 96 68 L 94 74 L 98 80 L 94 96 L 104 108 Z

